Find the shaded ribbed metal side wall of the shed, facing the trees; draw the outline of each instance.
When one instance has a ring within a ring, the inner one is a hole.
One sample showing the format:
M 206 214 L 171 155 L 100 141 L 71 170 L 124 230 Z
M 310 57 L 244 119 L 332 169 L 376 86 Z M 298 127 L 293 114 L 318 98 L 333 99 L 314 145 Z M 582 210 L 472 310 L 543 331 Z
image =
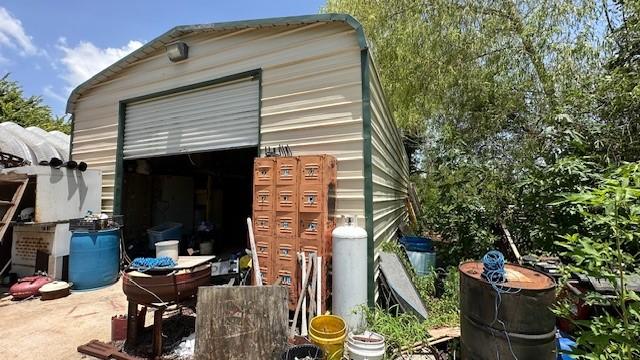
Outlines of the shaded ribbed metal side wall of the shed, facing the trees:
M 409 182 L 409 158 L 402 136 L 385 103 L 374 63 L 369 62 L 371 144 L 373 176 L 373 239 L 377 249 L 390 240 L 406 220 L 405 199 Z

